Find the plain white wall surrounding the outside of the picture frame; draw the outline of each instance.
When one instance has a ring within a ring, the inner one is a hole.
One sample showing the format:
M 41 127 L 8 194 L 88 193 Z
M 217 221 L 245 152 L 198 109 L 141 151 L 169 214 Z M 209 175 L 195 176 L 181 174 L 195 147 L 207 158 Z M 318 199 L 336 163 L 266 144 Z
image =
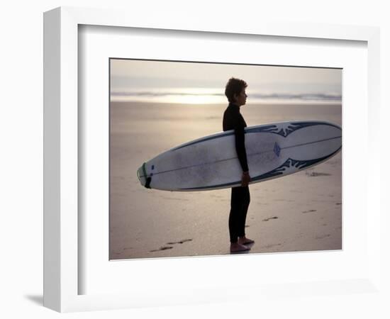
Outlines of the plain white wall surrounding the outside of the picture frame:
M 388 1 L 282 0 L 282 1 L 23 1 L 3 3 L 0 9 L 0 316 L 2 318 L 57 318 L 60 314 L 43 308 L 43 12 L 57 6 L 127 7 L 152 18 L 177 14 L 189 18 L 216 20 L 230 17 L 259 21 L 323 22 L 381 27 L 382 134 L 389 116 L 390 20 Z M 130 17 L 129 17 L 130 18 Z M 381 142 L 383 164 L 390 143 Z M 370 163 L 374 164 L 374 163 Z M 383 165 L 384 166 L 384 165 Z M 383 198 L 389 172 L 382 169 Z M 387 196 L 386 196 L 387 197 Z M 383 200 L 383 204 L 385 204 Z M 387 213 L 389 206 L 387 205 Z M 383 213 L 384 213 L 383 207 Z M 389 224 L 384 216 L 382 223 Z M 389 235 L 384 263 L 389 266 Z M 390 267 L 389 267 L 390 268 Z M 247 276 L 247 274 L 240 274 Z M 390 288 L 389 275 L 385 274 Z M 388 290 L 389 291 L 389 290 Z M 387 299 L 387 300 L 386 300 Z M 237 303 L 174 308 L 116 310 L 98 313 L 71 313 L 67 318 L 389 318 L 389 295 L 286 299 L 279 303 Z

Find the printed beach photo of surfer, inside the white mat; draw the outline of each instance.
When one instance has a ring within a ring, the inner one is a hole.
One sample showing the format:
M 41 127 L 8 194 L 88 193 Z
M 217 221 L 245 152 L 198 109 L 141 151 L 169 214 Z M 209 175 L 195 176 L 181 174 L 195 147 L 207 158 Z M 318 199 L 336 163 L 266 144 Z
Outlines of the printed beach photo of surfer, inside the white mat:
M 109 63 L 111 260 L 342 249 L 342 69 Z

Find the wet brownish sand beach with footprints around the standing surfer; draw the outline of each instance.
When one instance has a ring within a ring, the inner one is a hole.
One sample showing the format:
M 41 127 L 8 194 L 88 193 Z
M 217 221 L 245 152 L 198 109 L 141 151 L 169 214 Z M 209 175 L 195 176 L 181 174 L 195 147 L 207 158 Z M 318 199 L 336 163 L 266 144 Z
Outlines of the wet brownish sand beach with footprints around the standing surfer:
M 110 259 L 230 254 L 230 189 L 145 189 L 143 162 L 221 132 L 227 104 L 111 102 Z M 248 126 L 318 120 L 342 126 L 341 105 L 250 104 Z M 342 152 L 287 177 L 250 185 L 250 254 L 342 249 Z

